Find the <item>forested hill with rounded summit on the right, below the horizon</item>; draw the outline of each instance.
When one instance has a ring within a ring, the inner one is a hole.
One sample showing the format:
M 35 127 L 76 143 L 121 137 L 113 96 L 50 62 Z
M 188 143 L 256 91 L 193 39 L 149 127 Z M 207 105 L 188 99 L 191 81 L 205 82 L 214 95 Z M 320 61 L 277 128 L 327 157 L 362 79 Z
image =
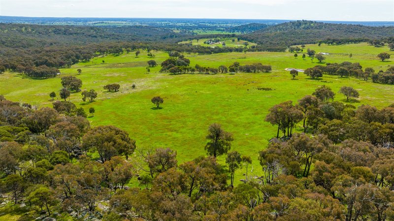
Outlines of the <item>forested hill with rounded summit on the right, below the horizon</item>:
M 394 36 L 394 27 L 330 24 L 313 21 L 294 21 L 269 26 L 242 35 L 243 39 L 265 46 L 312 44 L 319 41 L 360 42 Z

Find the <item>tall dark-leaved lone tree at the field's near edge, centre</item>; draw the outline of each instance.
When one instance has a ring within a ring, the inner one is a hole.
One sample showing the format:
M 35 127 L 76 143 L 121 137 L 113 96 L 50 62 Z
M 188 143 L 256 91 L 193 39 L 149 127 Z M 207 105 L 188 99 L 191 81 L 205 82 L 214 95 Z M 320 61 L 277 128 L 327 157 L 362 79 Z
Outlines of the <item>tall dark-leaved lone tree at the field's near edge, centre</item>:
M 231 149 L 231 141 L 234 140 L 230 132 L 224 131 L 222 126 L 216 123 L 208 127 L 206 139 L 209 141 L 205 145 L 205 150 L 214 158 L 226 154 Z

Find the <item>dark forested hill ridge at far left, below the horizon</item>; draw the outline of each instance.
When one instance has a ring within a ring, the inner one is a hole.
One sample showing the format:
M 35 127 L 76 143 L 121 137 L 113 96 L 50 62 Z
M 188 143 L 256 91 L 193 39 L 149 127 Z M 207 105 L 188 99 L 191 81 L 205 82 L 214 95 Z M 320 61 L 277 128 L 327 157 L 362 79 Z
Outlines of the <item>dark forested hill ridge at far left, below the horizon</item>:
M 84 45 L 106 41 L 160 41 L 185 36 L 151 26 L 89 27 L 0 23 L 0 47 Z

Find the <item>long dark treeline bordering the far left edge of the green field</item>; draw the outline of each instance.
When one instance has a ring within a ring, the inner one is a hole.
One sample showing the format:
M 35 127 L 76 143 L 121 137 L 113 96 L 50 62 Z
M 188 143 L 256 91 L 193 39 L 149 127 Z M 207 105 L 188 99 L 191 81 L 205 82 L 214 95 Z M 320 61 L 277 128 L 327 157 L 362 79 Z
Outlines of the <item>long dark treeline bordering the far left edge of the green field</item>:
M 31 77 L 49 77 L 52 74 L 47 74 L 45 72 L 55 72 L 54 69 L 50 68 L 69 67 L 75 63 L 90 61 L 90 59 L 97 56 L 104 56 L 107 54 L 120 55 L 125 52 L 129 53 L 136 50 L 161 50 L 166 52 L 178 51 L 181 53 L 213 54 L 244 52 L 245 49 L 243 47 L 211 48 L 163 42 L 101 43 L 89 44 L 86 46 L 53 46 L 49 48 L 35 48 L 29 50 L 5 49 L 4 54 L 0 56 L 0 65 L 4 66 L 7 70 L 27 74 Z M 259 51 L 265 49 L 259 46 L 251 46 L 247 50 Z M 282 48 L 281 50 L 284 51 L 286 48 Z M 41 67 L 36 68 L 38 66 Z M 49 67 L 49 69 L 46 67 Z

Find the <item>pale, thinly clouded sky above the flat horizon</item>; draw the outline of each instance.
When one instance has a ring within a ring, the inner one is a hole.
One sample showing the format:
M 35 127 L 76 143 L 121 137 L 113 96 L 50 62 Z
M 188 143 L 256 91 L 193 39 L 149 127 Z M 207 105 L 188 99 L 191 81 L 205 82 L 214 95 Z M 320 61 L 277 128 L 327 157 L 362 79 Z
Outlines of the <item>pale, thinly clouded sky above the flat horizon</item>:
M 0 15 L 394 21 L 394 0 L 0 0 Z

